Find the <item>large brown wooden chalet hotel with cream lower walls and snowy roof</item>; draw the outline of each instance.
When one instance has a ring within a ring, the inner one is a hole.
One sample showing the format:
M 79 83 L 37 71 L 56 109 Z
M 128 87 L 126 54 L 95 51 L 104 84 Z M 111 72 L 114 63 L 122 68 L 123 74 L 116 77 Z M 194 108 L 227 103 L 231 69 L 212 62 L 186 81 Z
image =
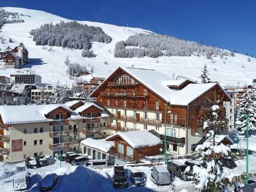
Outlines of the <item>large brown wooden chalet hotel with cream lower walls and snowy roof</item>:
M 210 118 L 211 106 L 220 100 L 220 115 L 226 118 L 223 102 L 230 97 L 218 83 L 195 83 L 174 79 L 161 72 L 117 68 L 90 95 L 111 112 L 112 134 L 147 130 L 164 140 L 170 154 L 189 154 L 204 137 L 202 120 Z M 228 129 L 219 134 L 227 134 Z

